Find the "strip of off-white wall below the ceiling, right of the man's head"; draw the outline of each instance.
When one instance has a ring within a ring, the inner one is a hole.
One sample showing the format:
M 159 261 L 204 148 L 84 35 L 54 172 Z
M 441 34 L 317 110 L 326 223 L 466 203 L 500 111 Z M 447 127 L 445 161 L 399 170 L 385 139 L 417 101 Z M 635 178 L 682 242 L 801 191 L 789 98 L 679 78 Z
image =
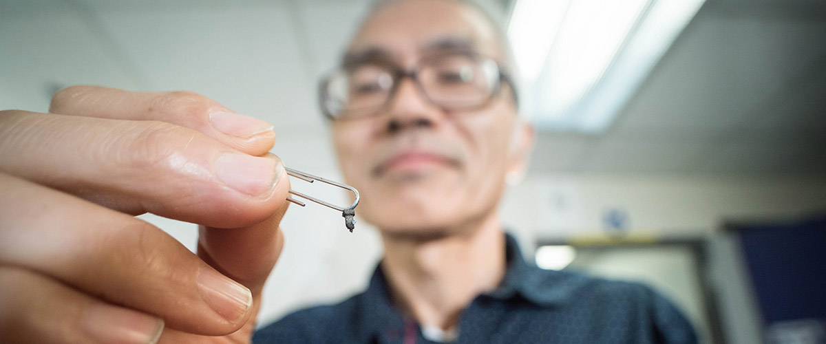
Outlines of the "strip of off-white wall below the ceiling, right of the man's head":
M 601 234 L 610 209 L 628 214 L 629 234 L 697 237 L 725 220 L 826 210 L 826 177 L 531 176 L 511 188 L 504 209 L 507 221 L 539 238 Z

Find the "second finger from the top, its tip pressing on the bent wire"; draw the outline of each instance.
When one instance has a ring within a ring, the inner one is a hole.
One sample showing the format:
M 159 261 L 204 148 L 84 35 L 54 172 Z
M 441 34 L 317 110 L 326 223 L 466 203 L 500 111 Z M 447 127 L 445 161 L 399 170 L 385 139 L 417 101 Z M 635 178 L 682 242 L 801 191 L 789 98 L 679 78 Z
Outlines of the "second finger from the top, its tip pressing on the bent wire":
M 289 189 L 277 157 L 165 122 L 6 111 L 0 138 L 0 172 L 129 214 L 237 228 L 267 219 Z

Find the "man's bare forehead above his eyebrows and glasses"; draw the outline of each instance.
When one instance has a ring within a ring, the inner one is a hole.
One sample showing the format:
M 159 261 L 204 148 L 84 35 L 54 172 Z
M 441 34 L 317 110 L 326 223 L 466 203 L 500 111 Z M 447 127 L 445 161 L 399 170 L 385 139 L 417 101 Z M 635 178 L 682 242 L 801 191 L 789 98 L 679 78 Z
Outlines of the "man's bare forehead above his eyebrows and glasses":
M 449 0 L 408 0 L 380 7 L 363 22 L 344 63 L 356 59 L 416 59 L 444 50 L 501 58 L 496 30 L 477 9 Z

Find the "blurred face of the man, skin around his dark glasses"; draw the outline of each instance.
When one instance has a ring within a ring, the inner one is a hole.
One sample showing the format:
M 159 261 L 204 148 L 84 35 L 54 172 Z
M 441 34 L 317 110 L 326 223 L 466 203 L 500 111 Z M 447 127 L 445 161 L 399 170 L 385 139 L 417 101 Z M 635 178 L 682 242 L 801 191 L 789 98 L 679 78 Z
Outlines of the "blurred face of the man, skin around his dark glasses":
M 497 42 L 491 24 L 468 5 L 406 1 L 374 13 L 349 54 L 378 54 L 411 70 L 422 58 L 451 52 L 443 50 L 472 49 L 505 65 Z M 508 87 L 482 108 L 444 111 L 405 78 L 377 115 L 335 120 L 344 177 L 362 195 L 358 214 L 388 234 L 441 235 L 489 219 L 506 174 L 525 155 L 512 139 L 522 124 Z

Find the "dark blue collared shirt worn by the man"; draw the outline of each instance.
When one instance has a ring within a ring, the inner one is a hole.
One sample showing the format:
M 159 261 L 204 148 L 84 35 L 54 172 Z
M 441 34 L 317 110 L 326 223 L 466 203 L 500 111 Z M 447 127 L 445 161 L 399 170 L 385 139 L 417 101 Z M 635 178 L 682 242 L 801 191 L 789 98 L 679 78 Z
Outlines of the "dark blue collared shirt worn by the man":
M 473 299 L 455 343 L 696 343 L 691 324 L 646 286 L 525 262 L 507 237 L 501 285 Z M 340 304 L 303 309 L 255 333 L 256 344 L 430 344 L 419 326 L 392 306 L 379 266 L 368 289 Z

